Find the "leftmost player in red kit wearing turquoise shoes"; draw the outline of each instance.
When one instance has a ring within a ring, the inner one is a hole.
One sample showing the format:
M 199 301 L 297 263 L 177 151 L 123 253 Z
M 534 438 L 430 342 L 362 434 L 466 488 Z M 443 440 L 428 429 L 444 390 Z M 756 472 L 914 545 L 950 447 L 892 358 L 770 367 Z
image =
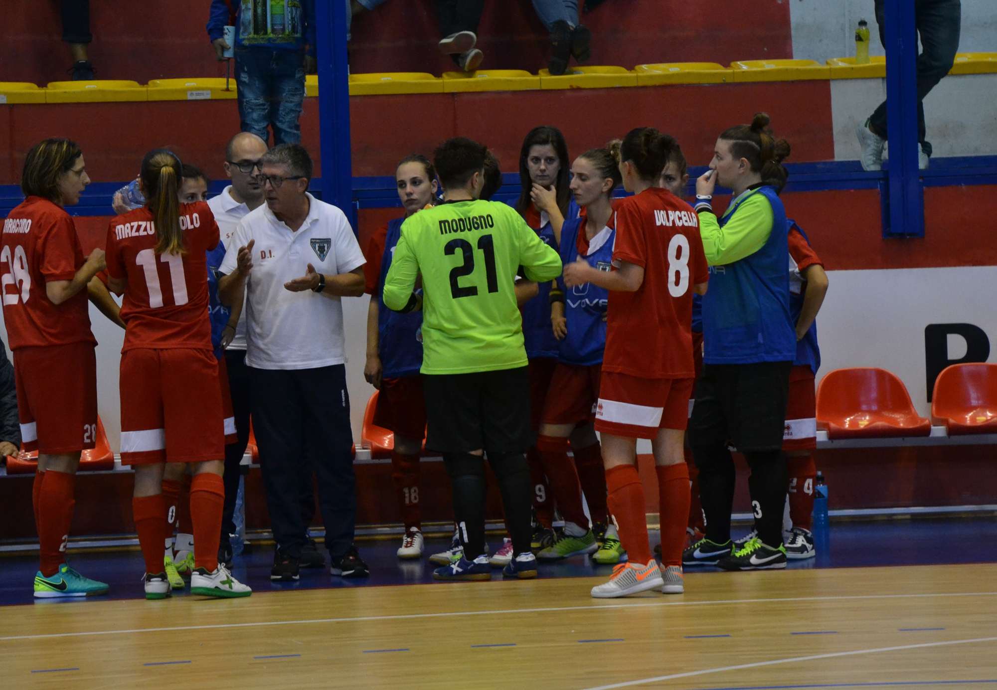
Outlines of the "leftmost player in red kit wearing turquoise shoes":
M 32 504 L 40 566 L 35 596 L 104 594 L 108 585 L 66 564 L 76 506 L 80 452 L 97 437 L 97 341 L 87 291 L 104 269 L 104 250 L 84 258 L 64 206 L 90 183 L 75 142 L 47 139 L 28 152 L 21 175 L 26 198 L 4 220 L 0 287 L 7 344 L 14 360 L 25 450 L 38 451 Z

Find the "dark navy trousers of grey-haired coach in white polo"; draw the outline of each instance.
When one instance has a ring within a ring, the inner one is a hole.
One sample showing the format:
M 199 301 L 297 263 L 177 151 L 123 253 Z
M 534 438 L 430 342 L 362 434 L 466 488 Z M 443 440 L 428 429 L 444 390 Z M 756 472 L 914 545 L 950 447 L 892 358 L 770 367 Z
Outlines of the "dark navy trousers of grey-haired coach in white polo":
M 325 544 L 333 558 L 353 544 L 356 480 L 346 368 L 249 367 L 253 429 L 278 548 L 300 557 L 307 522 L 302 488 L 314 474 Z

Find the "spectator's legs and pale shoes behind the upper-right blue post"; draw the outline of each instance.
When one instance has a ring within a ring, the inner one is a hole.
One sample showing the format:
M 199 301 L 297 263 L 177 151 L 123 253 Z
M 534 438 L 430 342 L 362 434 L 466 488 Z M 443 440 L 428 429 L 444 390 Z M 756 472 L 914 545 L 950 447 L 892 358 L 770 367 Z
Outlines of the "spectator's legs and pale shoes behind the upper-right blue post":
M 875 0 L 875 21 L 879 40 L 886 44 L 885 0 Z M 924 126 L 924 97 L 948 74 L 959 49 L 962 21 L 960 0 L 914 0 L 914 24 L 921 39 L 917 56 L 917 167 L 924 170 L 931 157 L 931 143 Z M 860 123 L 855 132 L 861 146 L 860 161 L 866 171 L 882 170 L 882 151 L 886 146 L 886 102 Z

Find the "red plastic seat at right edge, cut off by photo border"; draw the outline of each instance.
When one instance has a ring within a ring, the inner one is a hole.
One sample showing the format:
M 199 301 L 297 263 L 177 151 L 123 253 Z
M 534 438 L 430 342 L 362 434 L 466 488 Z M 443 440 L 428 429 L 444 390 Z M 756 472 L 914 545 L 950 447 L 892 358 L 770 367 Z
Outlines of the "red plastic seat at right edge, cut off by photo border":
M 935 379 L 931 420 L 949 436 L 997 434 L 997 364 L 953 364 Z

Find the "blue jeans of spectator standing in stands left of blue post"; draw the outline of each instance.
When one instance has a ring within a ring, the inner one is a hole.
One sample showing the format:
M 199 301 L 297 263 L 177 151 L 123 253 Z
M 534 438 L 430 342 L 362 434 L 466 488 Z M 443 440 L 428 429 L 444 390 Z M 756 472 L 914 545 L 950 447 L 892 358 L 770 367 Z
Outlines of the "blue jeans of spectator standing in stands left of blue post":
M 264 142 L 273 129 L 274 146 L 301 142 L 301 105 L 305 98 L 304 53 L 252 47 L 235 49 L 239 121 L 243 132 Z

